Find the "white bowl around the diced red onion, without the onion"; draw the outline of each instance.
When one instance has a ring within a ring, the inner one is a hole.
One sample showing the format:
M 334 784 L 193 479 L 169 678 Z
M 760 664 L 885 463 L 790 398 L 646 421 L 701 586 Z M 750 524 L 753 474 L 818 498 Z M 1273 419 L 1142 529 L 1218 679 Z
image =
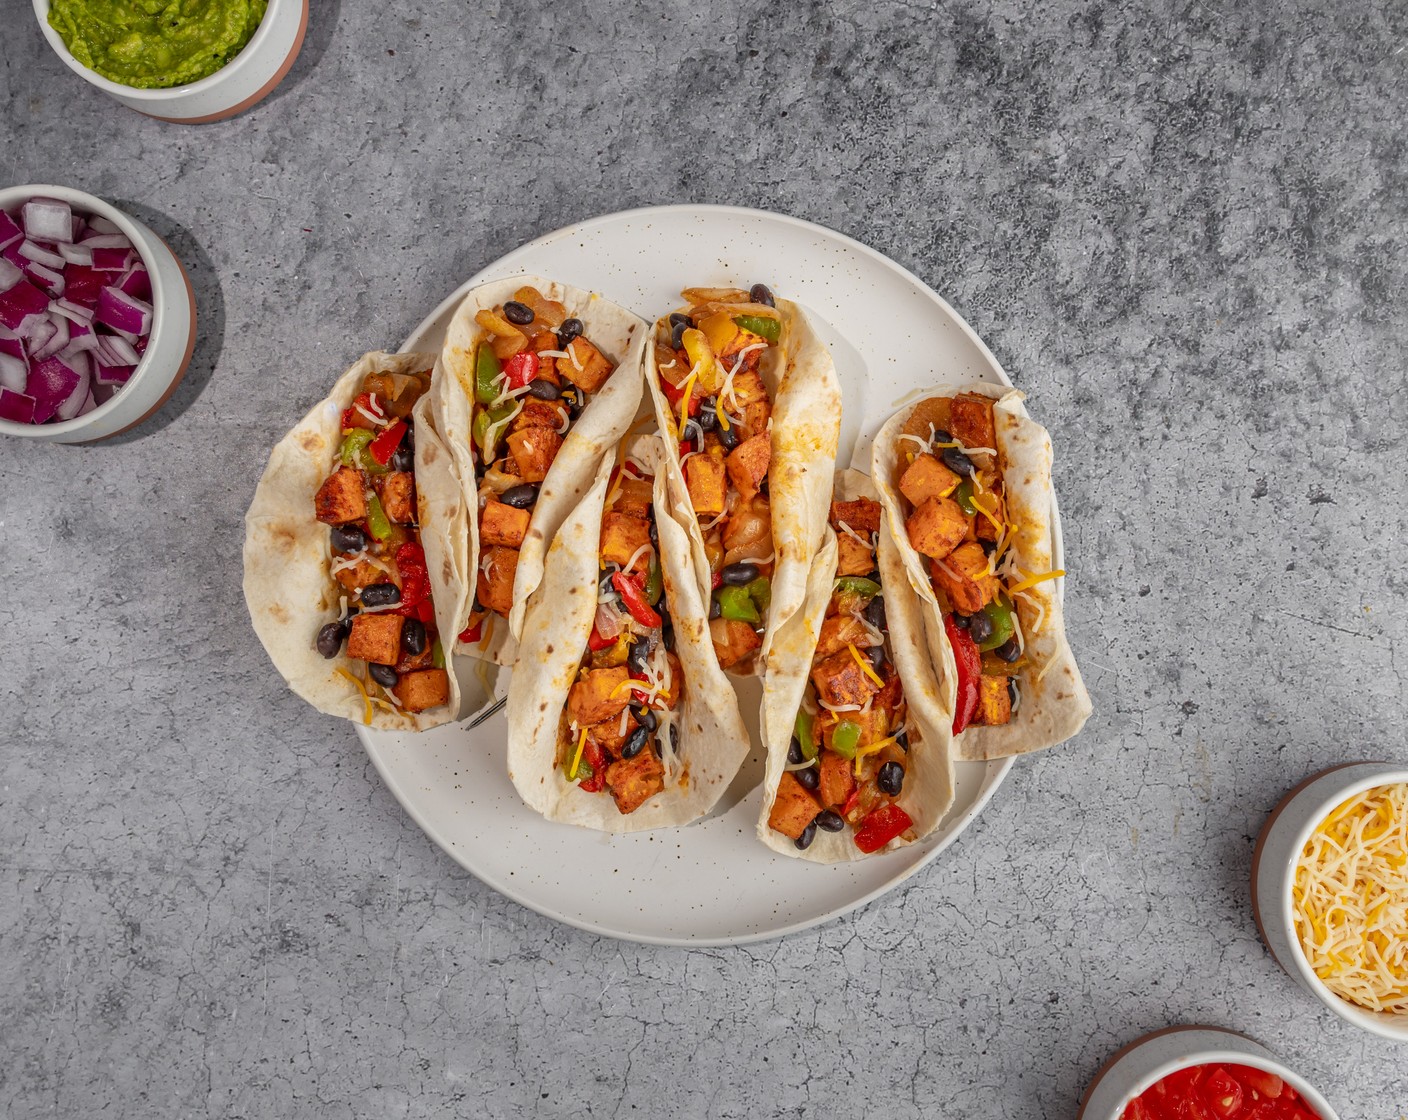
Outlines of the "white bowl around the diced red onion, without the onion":
M 137 424 L 166 403 L 186 373 L 196 348 L 196 297 L 190 278 L 176 254 L 156 234 L 115 206 L 82 190 L 61 186 L 17 186 L 0 190 L 0 210 L 11 210 L 34 197 L 62 199 L 84 214 L 100 214 L 127 234 L 152 278 L 152 332 L 146 352 L 111 400 L 73 420 L 55 424 L 17 424 L 0 420 L 0 435 L 45 440 L 52 444 L 86 444 L 106 440 Z

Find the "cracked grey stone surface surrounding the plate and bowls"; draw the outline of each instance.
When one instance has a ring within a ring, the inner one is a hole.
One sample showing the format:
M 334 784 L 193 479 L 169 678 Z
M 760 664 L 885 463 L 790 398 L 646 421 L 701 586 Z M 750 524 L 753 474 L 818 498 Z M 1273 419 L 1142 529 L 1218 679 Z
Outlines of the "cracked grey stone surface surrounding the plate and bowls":
M 138 117 L 0 34 L 0 182 L 163 234 L 161 420 L 0 445 L 0 1113 L 1069 1117 L 1138 1034 L 1257 1037 L 1346 1117 L 1404 1051 L 1257 940 L 1252 838 L 1408 761 L 1401 4 L 314 0 L 276 96 Z M 459 871 L 239 593 L 269 447 L 558 225 L 777 209 L 942 292 L 1052 428 L 1095 716 L 905 889 L 743 950 L 603 941 Z

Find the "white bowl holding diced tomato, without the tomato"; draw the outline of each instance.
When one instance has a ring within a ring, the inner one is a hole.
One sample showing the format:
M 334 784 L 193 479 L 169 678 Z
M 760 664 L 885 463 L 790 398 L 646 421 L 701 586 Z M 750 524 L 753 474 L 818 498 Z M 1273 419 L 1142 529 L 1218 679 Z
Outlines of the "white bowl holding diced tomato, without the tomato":
M 1222 1027 L 1167 1027 L 1117 1051 L 1086 1089 L 1076 1120 L 1119 1120 L 1139 1093 L 1191 1065 L 1250 1065 L 1276 1074 L 1300 1093 L 1319 1120 L 1339 1120 L 1305 1078 L 1287 1069 L 1260 1043 Z

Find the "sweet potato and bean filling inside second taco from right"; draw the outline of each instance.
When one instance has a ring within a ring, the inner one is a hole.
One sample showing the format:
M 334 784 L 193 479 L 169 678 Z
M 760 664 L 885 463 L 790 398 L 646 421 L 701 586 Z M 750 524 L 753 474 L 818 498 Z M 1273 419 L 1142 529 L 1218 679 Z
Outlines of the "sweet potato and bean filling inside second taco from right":
M 873 852 L 914 824 L 895 803 L 914 733 L 876 565 L 880 503 L 832 502 L 831 527 L 836 580 L 767 824 L 803 850 L 817 828 L 850 828 L 856 847 Z

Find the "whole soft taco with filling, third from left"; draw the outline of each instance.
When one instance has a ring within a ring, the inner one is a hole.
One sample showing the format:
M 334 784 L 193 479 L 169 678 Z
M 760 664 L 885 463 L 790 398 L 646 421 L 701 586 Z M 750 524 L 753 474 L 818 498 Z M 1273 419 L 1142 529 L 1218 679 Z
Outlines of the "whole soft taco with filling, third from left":
M 608 833 L 704 816 L 748 755 L 707 642 L 656 438 L 601 461 L 548 551 L 508 687 L 508 776 L 545 817 Z

